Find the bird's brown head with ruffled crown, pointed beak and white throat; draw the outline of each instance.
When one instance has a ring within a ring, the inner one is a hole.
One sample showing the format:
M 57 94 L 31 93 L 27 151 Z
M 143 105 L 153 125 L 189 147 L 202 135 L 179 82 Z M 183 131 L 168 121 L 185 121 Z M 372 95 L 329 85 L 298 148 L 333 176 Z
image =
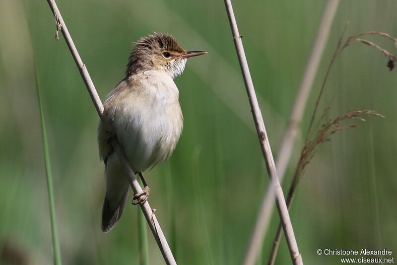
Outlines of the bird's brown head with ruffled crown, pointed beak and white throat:
M 167 33 L 154 33 L 140 38 L 135 43 L 129 63 L 127 77 L 146 70 L 164 70 L 172 78 L 185 69 L 189 57 L 206 54 L 203 51 L 185 51 L 177 40 Z

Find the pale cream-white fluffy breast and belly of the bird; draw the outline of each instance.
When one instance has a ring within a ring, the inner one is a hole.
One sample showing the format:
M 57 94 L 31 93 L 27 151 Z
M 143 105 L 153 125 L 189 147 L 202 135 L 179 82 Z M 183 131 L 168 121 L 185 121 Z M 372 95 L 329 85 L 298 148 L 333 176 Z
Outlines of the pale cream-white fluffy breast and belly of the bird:
M 167 159 L 182 133 L 179 93 L 169 80 L 143 79 L 142 87 L 123 99 L 115 119 L 117 136 L 135 171 Z

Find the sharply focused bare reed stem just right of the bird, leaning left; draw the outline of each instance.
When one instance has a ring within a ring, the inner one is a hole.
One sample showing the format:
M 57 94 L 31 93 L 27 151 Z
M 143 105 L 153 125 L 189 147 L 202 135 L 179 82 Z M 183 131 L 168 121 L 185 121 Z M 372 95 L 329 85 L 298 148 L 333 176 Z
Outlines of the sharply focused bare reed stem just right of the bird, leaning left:
M 257 96 L 255 93 L 254 84 L 252 82 L 250 70 L 248 67 L 247 59 L 244 53 L 243 43 L 241 41 L 241 36 L 239 34 L 237 28 L 236 18 L 234 16 L 233 7 L 230 0 L 225 0 L 225 6 L 227 10 L 227 15 L 229 17 L 230 27 L 232 29 L 234 44 L 237 51 L 237 56 L 240 62 L 241 71 L 243 73 L 245 86 L 247 89 L 248 98 L 251 105 L 251 111 L 253 114 L 255 126 L 257 128 L 257 133 L 259 137 L 259 141 L 261 144 L 262 152 L 265 158 L 265 164 L 267 168 L 267 172 L 270 178 L 270 185 L 275 191 L 276 196 L 276 204 L 278 208 L 278 212 L 280 215 L 280 219 L 283 224 L 285 238 L 287 240 L 288 249 L 291 255 L 291 259 L 294 265 L 303 265 L 302 257 L 299 254 L 298 245 L 296 243 L 294 231 L 291 224 L 291 219 L 289 217 L 287 205 L 285 204 L 284 195 L 278 182 L 277 171 L 274 164 L 273 155 L 271 153 L 270 143 L 267 138 L 267 133 L 265 129 L 265 124 L 262 118 L 261 110 L 259 108 Z M 256 246 L 260 246 L 260 244 L 256 244 Z M 250 248 L 251 249 L 251 248 Z M 244 261 L 245 265 L 253 265 L 256 259 L 256 253 L 259 248 L 252 248 L 254 250 L 254 255 L 249 255 L 248 259 Z

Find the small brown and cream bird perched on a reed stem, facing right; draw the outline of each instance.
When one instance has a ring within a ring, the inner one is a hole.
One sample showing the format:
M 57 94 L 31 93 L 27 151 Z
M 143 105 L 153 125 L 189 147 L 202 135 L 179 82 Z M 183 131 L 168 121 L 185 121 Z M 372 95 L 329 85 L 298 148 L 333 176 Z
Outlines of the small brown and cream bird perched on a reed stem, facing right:
M 183 128 L 179 90 L 174 78 L 182 74 L 187 59 L 207 54 L 186 51 L 168 33 L 140 38 L 132 50 L 126 77 L 104 103 L 98 126 L 100 159 L 105 164 L 106 194 L 102 207 L 102 231 L 109 232 L 126 207 L 129 182 L 113 149 L 117 138 L 145 189 L 135 194 L 136 203 L 146 201 L 149 189 L 142 172 L 161 164 L 173 153 Z

